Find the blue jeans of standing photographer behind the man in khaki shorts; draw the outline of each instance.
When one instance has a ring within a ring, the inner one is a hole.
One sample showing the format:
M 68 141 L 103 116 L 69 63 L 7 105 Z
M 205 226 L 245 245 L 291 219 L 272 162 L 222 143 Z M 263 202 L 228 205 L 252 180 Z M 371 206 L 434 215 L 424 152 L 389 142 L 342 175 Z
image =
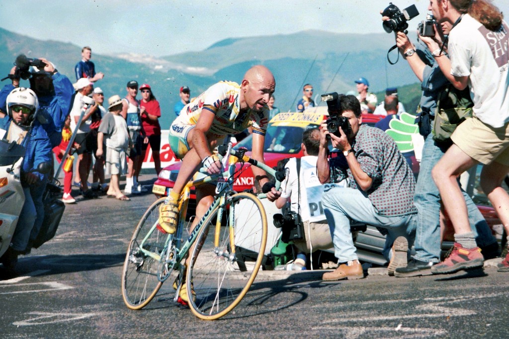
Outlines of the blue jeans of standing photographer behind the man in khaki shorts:
M 440 193 L 431 177 L 431 170 L 447 151 L 447 146 L 440 146 L 429 134 L 422 149 L 419 177 L 415 186 L 414 204 L 417 208 L 417 230 L 415 234 L 416 260 L 438 263 L 440 258 Z M 496 241 L 488 223 L 462 189 L 467 203 L 468 220 L 478 246 L 486 246 Z

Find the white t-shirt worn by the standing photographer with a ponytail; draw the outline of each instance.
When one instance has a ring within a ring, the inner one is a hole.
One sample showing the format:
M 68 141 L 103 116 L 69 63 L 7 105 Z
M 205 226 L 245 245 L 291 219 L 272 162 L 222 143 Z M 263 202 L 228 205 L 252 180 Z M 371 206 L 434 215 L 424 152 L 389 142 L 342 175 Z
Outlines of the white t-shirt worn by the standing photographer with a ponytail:
M 474 114 L 492 127 L 509 122 L 508 31 L 505 21 L 492 32 L 465 14 L 449 34 L 450 73 L 469 77 Z

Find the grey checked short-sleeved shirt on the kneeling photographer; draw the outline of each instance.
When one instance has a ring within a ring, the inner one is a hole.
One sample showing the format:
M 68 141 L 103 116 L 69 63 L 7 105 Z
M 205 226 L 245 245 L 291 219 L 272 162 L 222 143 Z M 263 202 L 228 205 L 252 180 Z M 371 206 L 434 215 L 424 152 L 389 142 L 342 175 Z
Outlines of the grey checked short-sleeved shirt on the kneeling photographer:
M 417 213 L 413 205 L 414 176 L 394 140 L 378 128 L 361 125 L 352 145 L 363 172 L 373 184 L 367 197 L 383 216 Z M 348 177 L 349 187 L 360 189 L 341 154 L 329 160 L 331 182 Z

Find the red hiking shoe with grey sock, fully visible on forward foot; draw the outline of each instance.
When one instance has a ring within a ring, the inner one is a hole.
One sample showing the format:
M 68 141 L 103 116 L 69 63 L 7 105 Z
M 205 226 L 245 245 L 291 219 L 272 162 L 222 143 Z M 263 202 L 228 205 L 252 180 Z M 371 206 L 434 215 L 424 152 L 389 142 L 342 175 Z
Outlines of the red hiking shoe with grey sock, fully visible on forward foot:
M 455 273 L 460 270 L 483 267 L 484 257 L 480 253 L 479 247 L 463 248 L 459 243 L 455 242 L 445 255 L 444 261 L 433 265 L 431 273 L 448 274 Z

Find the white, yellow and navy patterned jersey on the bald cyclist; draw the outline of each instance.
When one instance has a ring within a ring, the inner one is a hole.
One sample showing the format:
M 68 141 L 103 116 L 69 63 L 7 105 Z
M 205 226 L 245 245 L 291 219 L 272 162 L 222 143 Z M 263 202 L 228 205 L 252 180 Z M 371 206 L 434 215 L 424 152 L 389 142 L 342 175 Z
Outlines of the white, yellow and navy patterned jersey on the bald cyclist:
M 185 105 L 172 125 L 196 125 L 202 111 L 208 110 L 215 115 L 209 133 L 217 138 L 238 134 L 249 126 L 253 127 L 253 133 L 265 135 L 269 107 L 265 106 L 260 112 L 251 109 L 240 112 L 239 92 L 236 82 L 220 81 Z

